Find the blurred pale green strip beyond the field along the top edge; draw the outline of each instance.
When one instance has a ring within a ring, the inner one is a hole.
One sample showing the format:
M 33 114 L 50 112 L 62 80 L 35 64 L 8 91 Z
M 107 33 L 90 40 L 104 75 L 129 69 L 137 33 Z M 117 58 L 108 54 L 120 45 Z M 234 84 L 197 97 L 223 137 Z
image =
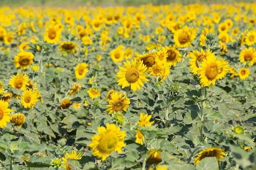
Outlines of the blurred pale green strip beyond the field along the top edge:
M 83 6 L 88 2 L 92 6 L 110 7 L 110 6 L 139 6 L 142 4 L 152 3 L 153 5 L 181 3 L 235 3 L 235 2 L 255 2 L 255 0 L 0 0 L 0 7 L 2 6 Z

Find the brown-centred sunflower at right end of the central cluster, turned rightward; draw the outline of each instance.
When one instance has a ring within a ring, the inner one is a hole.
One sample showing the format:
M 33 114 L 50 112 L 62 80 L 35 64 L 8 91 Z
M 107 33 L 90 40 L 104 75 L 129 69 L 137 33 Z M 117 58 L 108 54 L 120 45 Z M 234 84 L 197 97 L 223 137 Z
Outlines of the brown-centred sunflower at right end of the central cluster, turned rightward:
M 168 66 L 176 66 L 176 63 L 181 61 L 181 54 L 176 50 L 176 46 L 164 46 L 163 49 L 167 50 L 166 64 Z

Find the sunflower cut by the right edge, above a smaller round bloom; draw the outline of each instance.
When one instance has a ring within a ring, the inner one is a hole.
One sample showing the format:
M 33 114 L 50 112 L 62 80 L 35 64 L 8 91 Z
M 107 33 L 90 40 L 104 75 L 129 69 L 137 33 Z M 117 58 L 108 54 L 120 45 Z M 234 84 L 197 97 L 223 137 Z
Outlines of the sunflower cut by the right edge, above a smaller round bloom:
M 256 50 L 252 47 L 243 49 L 239 54 L 240 62 L 246 64 L 249 62 L 249 66 L 252 66 L 256 60 Z

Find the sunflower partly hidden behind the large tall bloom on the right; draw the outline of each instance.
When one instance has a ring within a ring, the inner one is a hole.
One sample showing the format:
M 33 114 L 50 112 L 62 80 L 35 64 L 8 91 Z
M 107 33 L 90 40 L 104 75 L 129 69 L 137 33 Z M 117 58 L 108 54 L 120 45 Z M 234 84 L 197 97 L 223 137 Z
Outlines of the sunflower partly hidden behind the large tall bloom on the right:
M 204 51 L 202 48 L 201 48 L 201 52 L 197 51 L 197 50 L 192 50 L 193 52 L 190 53 L 190 57 L 192 58 L 189 62 L 190 64 L 190 67 L 189 67 L 189 70 L 192 70 L 191 72 L 194 74 L 194 75 L 197 75 L 198 74 L 198 68 L 199 68 L 199 65 L 198 65 L 198 62 L 202 62 L 204 59 L 207 60 L 207 58 L 209 56 L 214 56 L 214 53 L 211 53 L 210 49 L 207 49 L 207 51 Z

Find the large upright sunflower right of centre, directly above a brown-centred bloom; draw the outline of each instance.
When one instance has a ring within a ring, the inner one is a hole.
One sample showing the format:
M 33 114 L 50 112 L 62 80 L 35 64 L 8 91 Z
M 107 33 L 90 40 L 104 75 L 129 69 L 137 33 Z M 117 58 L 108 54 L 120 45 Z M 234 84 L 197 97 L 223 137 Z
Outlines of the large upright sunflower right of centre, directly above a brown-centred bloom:
M 173 34 L 173 40 L 175 42 L 175 45 L 181 48 L 191 46 L 191 42 L 193 39 L 191 38 L 191 32 L 189 31 L 189 28 L 185 26 L 182 29 L 178 29 Z

